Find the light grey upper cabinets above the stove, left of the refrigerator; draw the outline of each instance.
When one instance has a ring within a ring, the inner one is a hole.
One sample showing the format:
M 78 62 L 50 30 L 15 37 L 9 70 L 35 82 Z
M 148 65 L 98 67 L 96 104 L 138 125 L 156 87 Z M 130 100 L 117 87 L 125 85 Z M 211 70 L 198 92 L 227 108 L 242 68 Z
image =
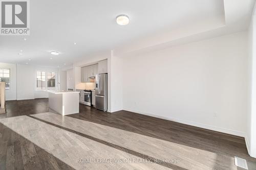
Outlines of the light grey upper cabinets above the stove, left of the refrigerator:
M 89 65 L 81 68 L 81 82 L 90 82 L 89 77 L 95 77 L 98 74 L 98 64 Z

